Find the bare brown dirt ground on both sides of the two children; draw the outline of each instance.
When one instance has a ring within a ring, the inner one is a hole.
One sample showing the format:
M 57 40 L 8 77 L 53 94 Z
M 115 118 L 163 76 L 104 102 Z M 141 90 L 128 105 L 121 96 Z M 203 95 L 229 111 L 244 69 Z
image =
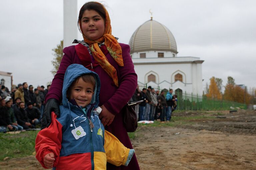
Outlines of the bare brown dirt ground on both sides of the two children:
M 256 111 L 175 115 L 214 119 L 190 120 L 191 124 L 175 128 L 140 127 L 132 144 L 141 170 L 256 170 Z M 29 156 L 2 161 L 0 169 L 43 168 Z

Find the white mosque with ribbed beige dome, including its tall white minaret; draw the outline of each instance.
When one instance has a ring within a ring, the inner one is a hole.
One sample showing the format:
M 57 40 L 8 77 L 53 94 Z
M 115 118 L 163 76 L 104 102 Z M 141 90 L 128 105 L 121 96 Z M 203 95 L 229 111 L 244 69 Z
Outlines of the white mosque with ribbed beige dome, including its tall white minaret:
M 77 38 L 77 0 L 64 1 L 64 47 Z M 178 94 L 202 96 L 202 63 L 199 57 L 177 56 L 177 45 L 171 31 L 151 19 L 139 26 L 129 41 L 130 55 L 138 83 L 159 89 L 173 89 Z

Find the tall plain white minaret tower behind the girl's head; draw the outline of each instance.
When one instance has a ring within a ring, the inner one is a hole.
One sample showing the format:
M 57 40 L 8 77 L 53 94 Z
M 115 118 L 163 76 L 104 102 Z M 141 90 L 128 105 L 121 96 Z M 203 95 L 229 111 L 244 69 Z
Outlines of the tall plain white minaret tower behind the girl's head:
M 63 18 L 64 18 L 64 35 L 63 48 L 72 45 L 74 39 L 77 39 L 77 0 L 63 0 Z

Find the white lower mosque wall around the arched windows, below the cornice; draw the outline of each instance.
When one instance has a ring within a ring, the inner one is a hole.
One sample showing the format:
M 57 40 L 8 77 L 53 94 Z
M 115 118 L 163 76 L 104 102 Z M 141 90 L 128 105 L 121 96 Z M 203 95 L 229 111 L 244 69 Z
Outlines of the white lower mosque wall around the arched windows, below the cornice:
M 193 93 L 202 96 L 202 64 L 201 63 L 177 63 L 177 64 L 136 64 L 134 69 L 138 75 L 138 81 L 148 83 L 148 76 L 155 75 L 156 84 L 161 89 L 180 88 L 184 93 Z M 175 82 L 176 74 L 182 75 L 182 82 Z M 152 84 L 153 85 L 153 84 Z

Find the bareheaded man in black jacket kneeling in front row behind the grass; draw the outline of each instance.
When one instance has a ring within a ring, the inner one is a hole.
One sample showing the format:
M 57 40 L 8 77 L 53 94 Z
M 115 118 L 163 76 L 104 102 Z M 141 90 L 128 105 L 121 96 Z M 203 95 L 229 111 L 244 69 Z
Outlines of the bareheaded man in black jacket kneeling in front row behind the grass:
M 24 108 L 25 108 L 25 103 L 21 101 L 19 104 L 19 112 L 17 112 L 16 114 L 18 124 L 22 126 L 23 129 L 35 128 L 34 125 L 29 123 L 27 112 L 25 111 Z

